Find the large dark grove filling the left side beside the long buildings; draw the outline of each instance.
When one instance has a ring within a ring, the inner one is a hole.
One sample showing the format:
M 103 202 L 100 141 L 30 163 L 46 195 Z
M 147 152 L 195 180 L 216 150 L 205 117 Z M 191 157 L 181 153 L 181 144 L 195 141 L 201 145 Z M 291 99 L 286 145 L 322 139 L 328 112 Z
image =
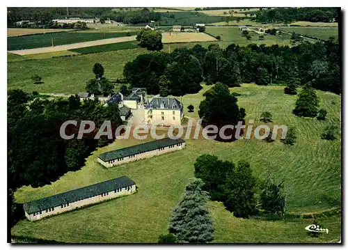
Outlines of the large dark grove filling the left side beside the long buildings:
M 76 133 L 81 120 L 93 120 L 96 129 L 82 139 L 66 140 L 60 128 L 67 120 L 77 120 L 77 126 L 68 126 L 66 134 Z M 20 214 L 13 204 L 17 188 L 41 187 L 77 171 L 95 148 L 111 142 L 106 136 L 93 139 L 104 120 L 111 120 L 113 131 L 122 125 L 118 105 L 104 107 L 97 98 L 81 102 L 77 95 L 42 100 L 21 90 L 8 91 L 8 211 Z M 17 217 L 10 217 L 9 225 L 15 221 Z

